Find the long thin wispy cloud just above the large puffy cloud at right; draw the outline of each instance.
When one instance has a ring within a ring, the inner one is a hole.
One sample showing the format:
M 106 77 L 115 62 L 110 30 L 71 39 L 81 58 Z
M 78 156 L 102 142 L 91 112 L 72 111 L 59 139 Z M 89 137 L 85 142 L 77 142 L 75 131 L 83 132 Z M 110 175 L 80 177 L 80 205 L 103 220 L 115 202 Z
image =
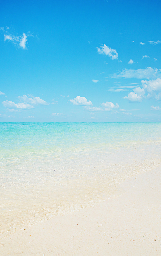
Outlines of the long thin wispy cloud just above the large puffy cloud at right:
M 155 79 L 160 76 L 160 69 L 147 67 L 145 69 L 124 69 L 119 73 L 111 75 L 110 78 L 138 78 Z

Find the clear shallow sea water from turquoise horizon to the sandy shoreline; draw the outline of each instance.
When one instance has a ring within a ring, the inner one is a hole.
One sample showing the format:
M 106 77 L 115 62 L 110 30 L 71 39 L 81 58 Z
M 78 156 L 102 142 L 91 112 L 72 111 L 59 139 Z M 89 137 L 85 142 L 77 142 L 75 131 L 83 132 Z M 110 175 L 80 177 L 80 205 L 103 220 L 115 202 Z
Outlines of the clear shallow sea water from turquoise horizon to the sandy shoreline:
M 118 196 L 160 164 L 160 123 L 0 123 L 0 232 Z

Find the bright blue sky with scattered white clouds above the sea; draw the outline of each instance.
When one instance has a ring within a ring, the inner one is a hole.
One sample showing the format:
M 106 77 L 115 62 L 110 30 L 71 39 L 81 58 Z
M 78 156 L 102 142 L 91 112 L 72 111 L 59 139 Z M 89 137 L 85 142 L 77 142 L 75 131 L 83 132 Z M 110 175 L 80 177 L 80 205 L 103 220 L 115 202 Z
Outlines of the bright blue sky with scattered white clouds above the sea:
M 160 122 L 160 1 L 3 1 L 0 122 Z

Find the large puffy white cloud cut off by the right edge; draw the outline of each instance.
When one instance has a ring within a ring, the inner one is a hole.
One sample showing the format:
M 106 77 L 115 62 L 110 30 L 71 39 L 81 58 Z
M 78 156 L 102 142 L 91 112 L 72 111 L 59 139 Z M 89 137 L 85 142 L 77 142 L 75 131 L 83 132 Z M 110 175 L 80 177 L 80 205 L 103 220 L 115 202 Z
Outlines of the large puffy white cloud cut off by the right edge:
M 157 78 L 156 80 L 141 81 L 143 88 L 137 87 L 133 89 L 134 92 L 130 92 L 128 96 L 125 96 L 124 99 L 128 99 L 129 102 L 141 102 L 143 99 L 160 100 L 160 88 L 161 80 Z

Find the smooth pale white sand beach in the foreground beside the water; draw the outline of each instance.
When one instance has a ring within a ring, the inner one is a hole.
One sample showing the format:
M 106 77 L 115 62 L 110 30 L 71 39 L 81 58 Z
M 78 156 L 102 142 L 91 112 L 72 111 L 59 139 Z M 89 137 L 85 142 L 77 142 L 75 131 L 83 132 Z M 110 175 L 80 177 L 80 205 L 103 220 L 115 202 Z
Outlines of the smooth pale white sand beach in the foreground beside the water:
M 161 255 L 160 170 L 124 181 L 120 197 L 3 238 L 0 255 Z

